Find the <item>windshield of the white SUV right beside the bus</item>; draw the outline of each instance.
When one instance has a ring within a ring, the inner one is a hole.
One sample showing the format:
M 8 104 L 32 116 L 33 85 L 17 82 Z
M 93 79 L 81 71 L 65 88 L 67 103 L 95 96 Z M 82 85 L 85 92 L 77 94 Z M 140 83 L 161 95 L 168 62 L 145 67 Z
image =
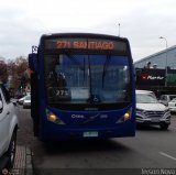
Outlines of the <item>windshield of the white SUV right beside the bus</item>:
M 156 103 L 157 99 L 155 96 L 150 94 L 136 94 L 138 103 Z

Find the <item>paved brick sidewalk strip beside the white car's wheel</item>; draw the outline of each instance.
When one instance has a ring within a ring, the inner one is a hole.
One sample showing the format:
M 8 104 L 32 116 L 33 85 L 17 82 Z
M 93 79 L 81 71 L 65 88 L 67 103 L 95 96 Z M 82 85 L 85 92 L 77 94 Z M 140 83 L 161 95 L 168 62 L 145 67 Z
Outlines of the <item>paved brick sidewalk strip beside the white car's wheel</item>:
M 16 145 L 14 166 L 9 175 L 33 175 L 31 150 L 23 145 Z

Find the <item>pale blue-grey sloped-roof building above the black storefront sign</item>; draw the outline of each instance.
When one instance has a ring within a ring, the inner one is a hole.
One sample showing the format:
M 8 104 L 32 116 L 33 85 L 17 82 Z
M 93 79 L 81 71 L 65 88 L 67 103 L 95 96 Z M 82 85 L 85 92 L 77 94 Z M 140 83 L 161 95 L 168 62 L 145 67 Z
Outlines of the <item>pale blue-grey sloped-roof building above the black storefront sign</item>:
M 148 62 L 151 63 L 151 67 L 154 68 L 169 67 L 176 69 L 176 45 L 134 62 L 134 67 L 143 68 Z

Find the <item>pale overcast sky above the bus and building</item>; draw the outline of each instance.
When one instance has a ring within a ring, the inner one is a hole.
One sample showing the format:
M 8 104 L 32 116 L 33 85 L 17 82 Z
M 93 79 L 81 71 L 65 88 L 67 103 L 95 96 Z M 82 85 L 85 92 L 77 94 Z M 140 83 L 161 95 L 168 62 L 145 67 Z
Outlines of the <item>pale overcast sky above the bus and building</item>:
M 176 0 L 0 0 L 0 56 L 28 56 L 44 33 L 128 37 L 134 62 L 176 45 Z

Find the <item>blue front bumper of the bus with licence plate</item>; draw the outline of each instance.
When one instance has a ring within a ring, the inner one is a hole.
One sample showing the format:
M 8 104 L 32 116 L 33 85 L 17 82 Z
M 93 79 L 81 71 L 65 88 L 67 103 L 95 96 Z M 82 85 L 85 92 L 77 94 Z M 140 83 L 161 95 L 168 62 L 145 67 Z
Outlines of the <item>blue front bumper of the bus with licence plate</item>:
M 43 141 L 48 140 L 85 140 L 85 139 L 108 139 L 108 138 L 122 138 L 122 136 L 134 136 L 135 135 L 135 124 L 130 125 L 117 124 L 117 127 L 111 128 L 59 128 L 59 127 L 48 127 L 41 130 L 40 139 Z

